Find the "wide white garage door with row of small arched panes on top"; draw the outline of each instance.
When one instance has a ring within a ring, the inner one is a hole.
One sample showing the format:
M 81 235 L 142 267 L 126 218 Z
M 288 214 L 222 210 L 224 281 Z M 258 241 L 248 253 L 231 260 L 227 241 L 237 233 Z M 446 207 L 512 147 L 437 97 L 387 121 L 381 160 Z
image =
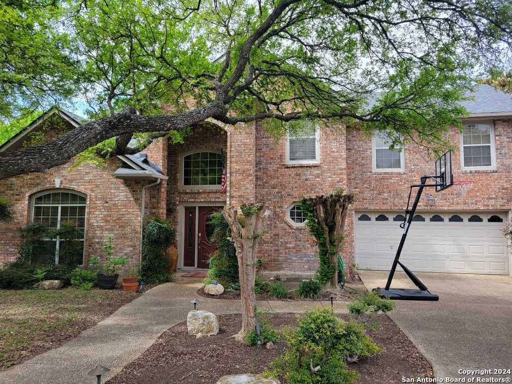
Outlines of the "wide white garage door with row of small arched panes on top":
M 355 212 L 360 269 L 389 270 L 402 235 L 401 212 Z M 505 212 L 419 212 L 400 261 L 413 271 L 508 274 Z

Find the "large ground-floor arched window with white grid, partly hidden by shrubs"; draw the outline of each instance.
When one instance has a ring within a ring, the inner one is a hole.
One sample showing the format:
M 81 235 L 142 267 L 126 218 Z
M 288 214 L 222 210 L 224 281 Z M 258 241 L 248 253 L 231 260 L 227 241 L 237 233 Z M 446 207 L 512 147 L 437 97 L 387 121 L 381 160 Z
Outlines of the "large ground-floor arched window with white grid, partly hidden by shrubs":
M 63 223 L 69 223 L 76 228 L 76 241 L 68 242 L 59 236 L 46 240 L 48 252 L 55 254 L 55 264 L 83 263 L 86 205 L 85 196 L 69 190 L 45 191 L 33 197 L 32 222 L 53 230 L 61 229 Z

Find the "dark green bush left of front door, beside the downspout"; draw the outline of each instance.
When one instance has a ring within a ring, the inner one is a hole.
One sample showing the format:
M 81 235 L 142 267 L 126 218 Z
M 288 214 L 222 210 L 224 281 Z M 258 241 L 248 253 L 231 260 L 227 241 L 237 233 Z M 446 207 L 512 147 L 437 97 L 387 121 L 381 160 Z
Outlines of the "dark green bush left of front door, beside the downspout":
M 151 219 L 144 226 L 140 274 L 146 284 L 162 284 L 172 280 L 165 250 L 175 238 L 174 226 L 168 221 Z

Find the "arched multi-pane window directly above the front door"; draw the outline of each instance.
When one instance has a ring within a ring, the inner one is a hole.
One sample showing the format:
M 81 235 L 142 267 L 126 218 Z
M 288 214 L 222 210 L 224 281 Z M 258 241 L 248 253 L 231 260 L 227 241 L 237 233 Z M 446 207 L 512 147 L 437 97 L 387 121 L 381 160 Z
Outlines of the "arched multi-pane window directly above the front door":
M 222 158 L 217 152 L 197 152 L 183 158 L 183 185 L 221 185 Z

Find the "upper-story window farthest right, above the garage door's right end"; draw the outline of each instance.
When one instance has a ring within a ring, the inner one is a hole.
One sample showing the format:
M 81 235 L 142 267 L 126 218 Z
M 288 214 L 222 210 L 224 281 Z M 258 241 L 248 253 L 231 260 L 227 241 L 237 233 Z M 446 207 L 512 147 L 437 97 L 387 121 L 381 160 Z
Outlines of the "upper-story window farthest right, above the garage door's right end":
M 462 170 L 496 169 L 496 146 L 492 124 L 464 125 L 460 147 Z

